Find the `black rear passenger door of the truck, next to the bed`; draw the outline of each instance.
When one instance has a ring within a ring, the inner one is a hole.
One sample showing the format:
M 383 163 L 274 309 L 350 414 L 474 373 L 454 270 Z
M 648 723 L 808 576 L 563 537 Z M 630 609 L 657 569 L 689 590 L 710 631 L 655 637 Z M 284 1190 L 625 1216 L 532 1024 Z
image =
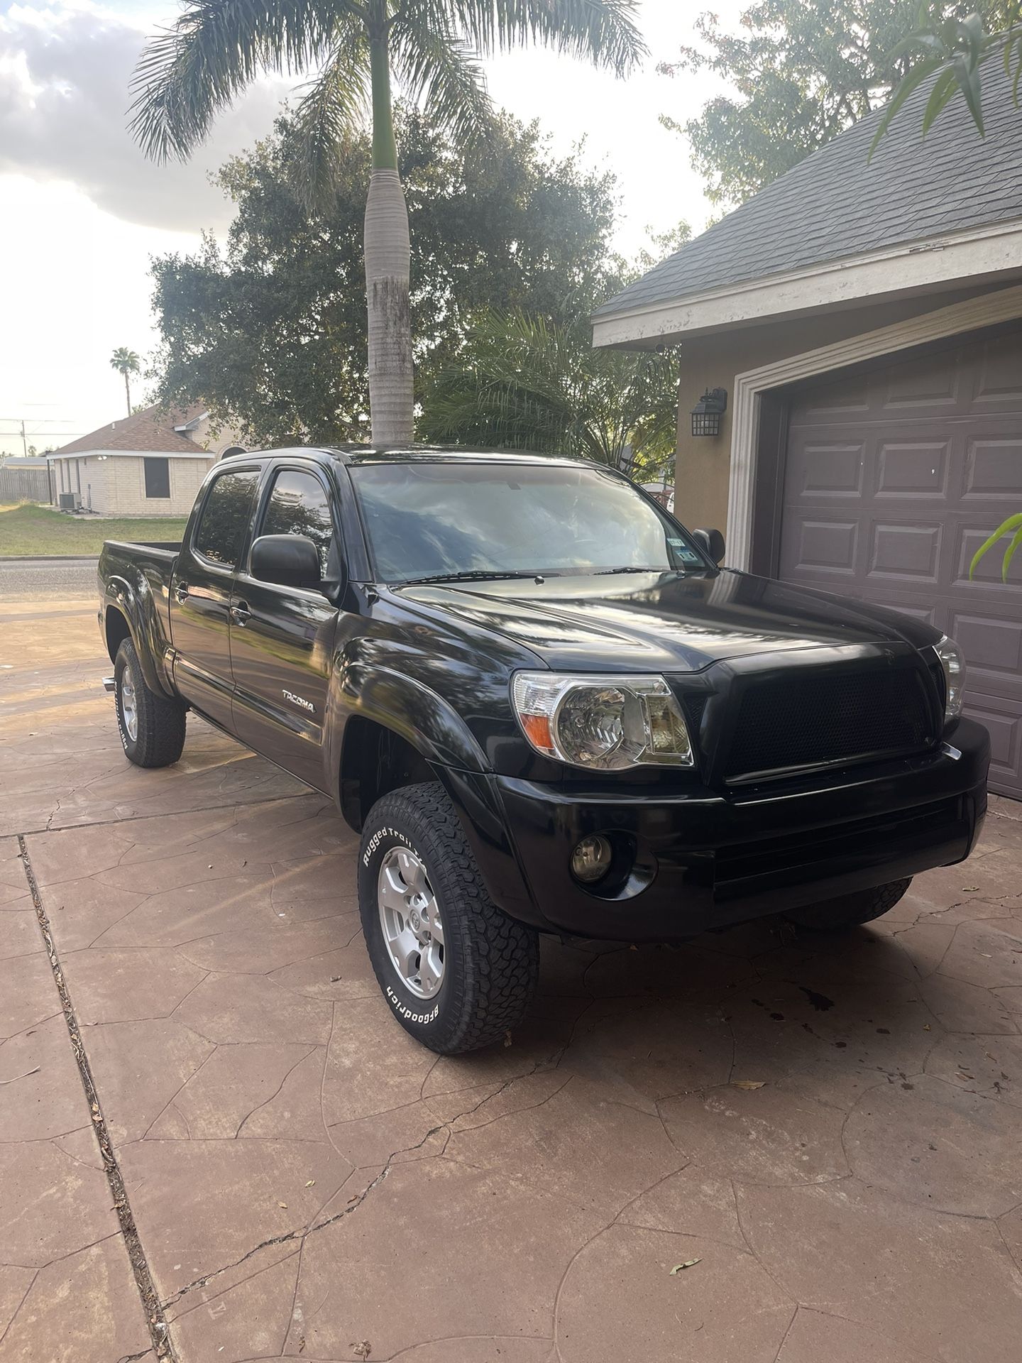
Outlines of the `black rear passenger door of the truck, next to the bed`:
M 225 469 L 192 518 L 170 582 L 174 683 L 207 718 L 233 732 L 230 589 L 247 545 L 259 469 Z

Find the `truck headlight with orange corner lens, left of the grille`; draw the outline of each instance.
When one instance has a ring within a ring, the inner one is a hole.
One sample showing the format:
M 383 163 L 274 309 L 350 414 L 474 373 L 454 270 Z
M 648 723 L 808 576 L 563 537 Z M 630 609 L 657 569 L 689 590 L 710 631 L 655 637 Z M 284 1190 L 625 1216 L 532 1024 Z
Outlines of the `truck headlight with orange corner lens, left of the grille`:
M 692 766 L 688 729 L 664 677 L 518 672 L 511 698 L 526 739 L 548 758 L 604 771 Z

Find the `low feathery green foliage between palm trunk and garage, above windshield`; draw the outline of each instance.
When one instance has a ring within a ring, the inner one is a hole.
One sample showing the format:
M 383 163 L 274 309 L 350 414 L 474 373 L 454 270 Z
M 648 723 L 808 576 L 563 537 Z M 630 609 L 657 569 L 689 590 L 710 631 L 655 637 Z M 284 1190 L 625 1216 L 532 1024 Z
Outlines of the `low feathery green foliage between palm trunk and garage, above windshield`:
M 587 315 L 548 323 L 484 312 L 424 403 L 422 435 L 439 442 L 575 454 L 650 473 L 675 453 L 677 356 L 594 349 Z

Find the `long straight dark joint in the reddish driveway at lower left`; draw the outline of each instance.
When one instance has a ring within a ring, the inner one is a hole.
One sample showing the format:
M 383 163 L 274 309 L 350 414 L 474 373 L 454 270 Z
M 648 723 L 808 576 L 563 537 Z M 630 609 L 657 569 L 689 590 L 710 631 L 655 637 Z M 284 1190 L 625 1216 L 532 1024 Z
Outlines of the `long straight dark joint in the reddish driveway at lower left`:
M 86 1055 L 84 1044 L 82 1041 L 82 1032 L 78 1025 L 78 1017 L 75 1014 L 74 1005 L 71 1003 L 71 995 L 68 994 L 67 981 L 64 979 L 64 972 L 60 965 L 60 957 L 57 955 L 57 949 L 53 945 L 53 935 L 50 932 L 49 919 L 46 917 L 46 910 L 42 906 L 42 897 L 40 895 L 40 886 L 35 880 L 35 872 L 31 868 L 31 860 L 29 857 L 29 848 L 25 841 L 25 834 L 18 834 L 18 849 L 20 853 L 22 866 L 25 867 L 25 878 L 29 882 L 29 890 L 31 893 L 31 901 L 35 905 L 35 917 L 40 923 L 40 932 L 42 934 L 42 942 L 46 947 L 46 955 L 49 957 L 50 969 L 53 970 L 53 983 L 57 987 L 57 994 L 60 995 L 60 1003 L 64 1010 L 64 1021 L 67 1024 L 68 1039 L 71 1041 L 71 1050 L 75 1056 L 75 1063 L 78 1065 L 78 1073 L 82 1079 L 82 1088 L 84 1089 L 86 1101 L 89 1103 L 89 1115 L 93 1120 L 93 1130 L 95 1131 L 95 1138 L 99 1142 L 99 1153 L 102 1154 L 104 1171 L 106 1174 L 106 1180 L 110 1184 L 110 1193 L 113 1194 L 113 1209 L 117 1213 L 117 1220 L 121 1225 L 121 1235 L 124 1236 L 124 1243 L 128 1250 L 128 1259 L 131 1262 L 132 1273 L 135 1274 L 135 1285 L 139 1289 L 139 1296 L 142 1298 L 142 1310 L 146 1315 L 146 1325 L 149 1328 L 149 1334 L 153 1341 L 153 1349 L 162 1363 L 176 1363 L 177 1355 L 170 1340 L 170 1332 L 164 1314 L 164 1307 L 161 1306 L 159 1296 L 157 1293 L 155 1285 L 153 1283 L 153 1274 L 149 1269 L 149 1261 L 146 1259 L 146 1251 L 142 1246 L 138 1228 L 135 1225 L 135 1217 L 132 1216 L 131 1204 L 128 1202 L 128 1193 L 124 1187 L 124 1179 L 121 1176 L 120 1165 L 117 1164 L 117 1156 L 113 1153 L 113 1142 L 110 1141 L 110 1134 L 106 1129 L 106 1120 L 102 1115 L 102 1108 L 99 1107 L 99 1096 L 95 1092 L 95 1084 L 93 1081 L 93 1071 L 89 1065 L 89 1056 Z M 134 1355 L 135 1358 L 143 1358 L 143 1355 Z

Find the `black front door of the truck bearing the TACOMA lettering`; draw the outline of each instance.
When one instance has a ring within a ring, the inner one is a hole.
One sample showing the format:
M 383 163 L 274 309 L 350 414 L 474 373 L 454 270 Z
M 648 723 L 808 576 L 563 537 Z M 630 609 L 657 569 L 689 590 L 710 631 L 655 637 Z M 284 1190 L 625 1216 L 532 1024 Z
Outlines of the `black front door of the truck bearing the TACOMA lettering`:
M 320 571 L 335 571 L 330 491 L 316 465 L 270 470 L 253 541 L 303 534 L 319 549 Z M 322 592 L 253 578 L 243 563 L 230 609 L 234 731 L 243 743 L 319 791 L 324 773 L 324 711 L 338 611 Z

